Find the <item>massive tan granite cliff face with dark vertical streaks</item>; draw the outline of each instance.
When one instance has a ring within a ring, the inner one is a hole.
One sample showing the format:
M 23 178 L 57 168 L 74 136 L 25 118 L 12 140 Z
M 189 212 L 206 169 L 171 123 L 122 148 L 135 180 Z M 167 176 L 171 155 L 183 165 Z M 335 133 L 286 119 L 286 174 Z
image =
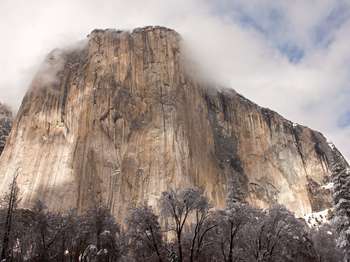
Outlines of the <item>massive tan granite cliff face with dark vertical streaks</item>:
M 103 201 L 118 218 L 156 206 L 169 187 L 202 187 L 225 204 L 286 205 L 298 215 L 331 205 L 332 149 L 319 132 L 195 76 L 173 30 L 95 30 L 53 51 L 33 80 L 0 160 L 22 205 Z M 18 169 L 20 168 L 20 169 Z

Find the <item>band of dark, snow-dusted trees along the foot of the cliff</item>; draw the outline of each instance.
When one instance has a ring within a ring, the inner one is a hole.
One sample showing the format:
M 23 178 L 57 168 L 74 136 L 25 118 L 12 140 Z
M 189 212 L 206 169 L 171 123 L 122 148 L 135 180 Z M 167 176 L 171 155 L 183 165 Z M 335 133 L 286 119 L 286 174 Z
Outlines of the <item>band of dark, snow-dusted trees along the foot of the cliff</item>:
M 281 205 L 261 210 L 236 198 L 211 206 L 199 188 L 161 194 L 159 214 L 146 204 L 116 221 L 109 208 L 50 211 L 37 201 L 17 207 L 16 177 L 2 200 L 2 261 L 310 261 L 339 262 L 332 223 L 310 228 Z

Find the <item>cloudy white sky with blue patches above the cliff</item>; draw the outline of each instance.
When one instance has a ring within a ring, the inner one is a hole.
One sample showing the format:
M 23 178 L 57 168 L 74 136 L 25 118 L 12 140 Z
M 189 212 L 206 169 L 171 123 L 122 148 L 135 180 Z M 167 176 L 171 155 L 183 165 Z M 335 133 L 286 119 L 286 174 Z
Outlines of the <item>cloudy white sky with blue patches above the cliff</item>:
M 171 27 L 223 85 L 321 131 L 350 159 L 350 0 L 0 0 L 0 101 L 95 28 Z

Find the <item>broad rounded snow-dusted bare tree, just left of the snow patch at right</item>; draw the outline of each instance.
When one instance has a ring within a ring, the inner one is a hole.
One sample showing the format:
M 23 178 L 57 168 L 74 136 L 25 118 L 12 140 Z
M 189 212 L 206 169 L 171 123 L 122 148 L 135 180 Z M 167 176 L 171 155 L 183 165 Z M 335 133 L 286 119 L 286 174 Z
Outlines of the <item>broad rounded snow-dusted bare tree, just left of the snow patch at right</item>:
M 250 227 L 251 252 L 256 261 L 316 261 L 306 223 L 276 205 Z

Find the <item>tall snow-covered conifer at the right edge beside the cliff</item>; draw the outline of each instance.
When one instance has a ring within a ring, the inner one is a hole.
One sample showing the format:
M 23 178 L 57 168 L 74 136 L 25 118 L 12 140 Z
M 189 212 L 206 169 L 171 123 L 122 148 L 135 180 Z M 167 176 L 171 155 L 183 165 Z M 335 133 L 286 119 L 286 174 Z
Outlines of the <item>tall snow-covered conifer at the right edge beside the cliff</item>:
M 334 201 L 334 224 L 339 235 L 337 244 L 344 252 L 344 261 L 350 261 L 350 169 L 341 153 L 333 147 L 331 172 Z

